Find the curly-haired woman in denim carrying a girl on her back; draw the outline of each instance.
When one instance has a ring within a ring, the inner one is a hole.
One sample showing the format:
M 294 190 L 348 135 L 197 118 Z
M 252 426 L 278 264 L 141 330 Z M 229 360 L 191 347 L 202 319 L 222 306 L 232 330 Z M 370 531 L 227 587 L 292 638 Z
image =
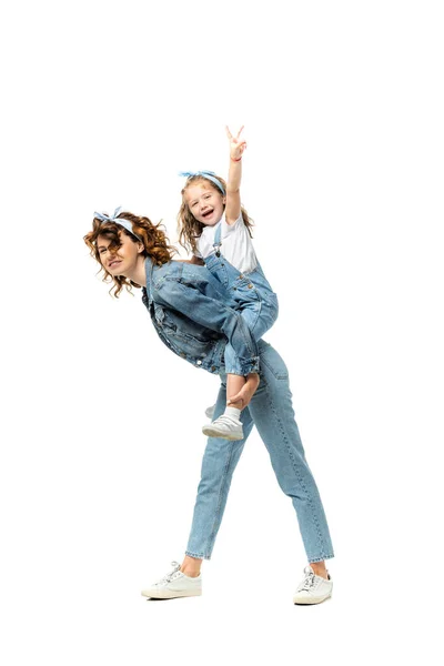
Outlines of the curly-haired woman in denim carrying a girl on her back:
M 234 468 L 255 425 L 278 482 L 292 498 L 309 559 L 293 602 L 319 604 L 329 598 L 333 583 L 325 559 L 334 556 L 332 542 L 294 420 L 287 370 L 278 352 L 263 340 L 256 343 L 252 339 L 230 293 L 210 271 L 172 261 L 174 249 L 148 218 L 120 209 L 112 218 L 95 213 L 84 241 L 104 271 L 103 280 L 113 282 L 115 296 L 123 286 L 142 287 L 143 303 L 162 342 L 196 367 L 221 375 L 215 417 L 226 403 L 223 359 L 228 342 L 248 380 L 232 398 L 242 398 L 246 405 L 241 415 L 244 437 L 234 442 L 209 437 L 185 557 L 142 595 L 173 598 L 201 594 L 202 559 L 211 557 Z

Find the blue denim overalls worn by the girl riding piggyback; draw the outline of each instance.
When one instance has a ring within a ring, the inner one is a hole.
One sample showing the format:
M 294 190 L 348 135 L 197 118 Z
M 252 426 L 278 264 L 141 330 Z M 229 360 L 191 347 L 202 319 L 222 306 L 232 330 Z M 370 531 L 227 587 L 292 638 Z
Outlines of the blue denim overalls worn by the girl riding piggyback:
M 221 254 L 221 229 L 222 225 L 219 224 L 214 234 L 215 253 L 203 261 L 208 270 L 221 282 L 239 305 L 240 314 L 258 342 L 278 319 L 278 296 L 259 264 L 254 271 L 244 274 Z M 231 344 L 225 347 L 225 371 L 231 374 L 243 374 Z

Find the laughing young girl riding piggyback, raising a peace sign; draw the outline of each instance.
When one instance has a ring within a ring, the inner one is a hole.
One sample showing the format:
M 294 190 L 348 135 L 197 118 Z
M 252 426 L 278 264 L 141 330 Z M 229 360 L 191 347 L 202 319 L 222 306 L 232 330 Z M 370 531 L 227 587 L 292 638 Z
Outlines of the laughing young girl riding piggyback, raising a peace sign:
M 212 171 L 182 172 L 188 176 L 182 190 L 178 215 L 179 240 L 191 250 L 191 263 L 202 260 L 211 273 L 229 290 L 238 311 L 258 341 L 278 317 L 278 299 L 259 265 L 251 241 L 251 222 L 241 205 L 242 155 L 246 148 L 240 139 L 243 127 L 230 140 L 230 169 L 224 180 Z M 202 431 L 212 437 L 242 440 L 240 414 L 243 408 L 235 396 L 245 383 L 233 347 L 225 349 L 226 408 Z M 234 398 L 234 400 L 233 400 Z M 208 411 L 211 414 L 211 408 Z

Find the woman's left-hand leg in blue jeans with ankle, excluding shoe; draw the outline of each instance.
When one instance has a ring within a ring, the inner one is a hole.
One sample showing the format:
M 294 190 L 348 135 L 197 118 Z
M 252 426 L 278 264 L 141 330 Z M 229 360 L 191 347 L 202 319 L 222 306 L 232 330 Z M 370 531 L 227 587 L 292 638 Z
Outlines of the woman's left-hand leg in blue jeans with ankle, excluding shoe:
M 220 416 L 226 402 L 225 386 L 222 384 L 214 416 Z M 210 559 L 215 537 L 222 522 L 231 478 L 241 457 L 245 441 L 253 427 L 253 420 L 248 408 L 241 414 L 243 440 L 230 442 L 219 437 L 209 437 L 202 461 L 201 481 L 194 506 L 193 523 L 186 547 L 186 555 L 194 559 Z M 182 566 L 190 566 L 190 559 Z M 198 565 L 195 563 L 198 571 Z

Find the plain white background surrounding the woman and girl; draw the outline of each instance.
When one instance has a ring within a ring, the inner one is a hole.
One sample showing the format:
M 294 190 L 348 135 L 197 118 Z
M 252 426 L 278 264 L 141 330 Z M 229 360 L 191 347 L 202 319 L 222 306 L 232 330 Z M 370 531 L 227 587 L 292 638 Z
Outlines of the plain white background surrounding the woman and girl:
M 2 7 L 2 664 L 437 664 L 442 3 Z M 123 205 L 175 242 L 176 172 L 224 175 L 225 123 L 336 554 L 311 608 L 256 433 L 204 595 L 140 596 L 183 556 L 218 382 L 82 236 Z

